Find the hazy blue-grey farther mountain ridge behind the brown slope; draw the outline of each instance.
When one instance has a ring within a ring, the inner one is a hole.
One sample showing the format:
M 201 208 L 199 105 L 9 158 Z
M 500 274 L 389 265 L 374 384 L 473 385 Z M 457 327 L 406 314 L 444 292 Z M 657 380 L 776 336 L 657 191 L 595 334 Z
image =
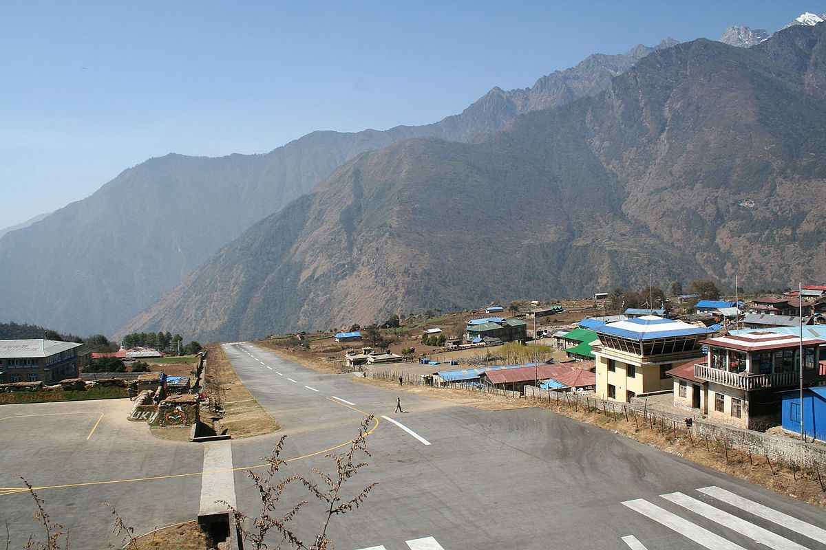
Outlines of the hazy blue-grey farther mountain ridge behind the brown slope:
M 522 113 L 600 92 L 645 55 L 673 44 L 591 55 L 525 89 L 495 87 L 431 125 L 313 132 L 259 155 L 152 158 L 87 199 L 0 237 L 0 315 L 112 334 L 245 229 L 360 153 L 417 137 L 468 142 Z

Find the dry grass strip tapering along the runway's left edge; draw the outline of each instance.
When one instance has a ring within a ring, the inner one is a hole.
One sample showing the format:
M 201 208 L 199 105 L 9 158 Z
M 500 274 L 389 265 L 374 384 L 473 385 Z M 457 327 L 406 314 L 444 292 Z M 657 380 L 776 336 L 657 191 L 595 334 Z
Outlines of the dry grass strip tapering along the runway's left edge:
M 221 419 L 221 430 L 226 430 L 233 439 L 271 434 L 280 430 L 278 422 L 255 401 L 252 393 L 241 383 L 221 345 L 211 344 L 207 349 L 207 385 L 216 383 L 223 388 L 221 402 L 225 413 Z

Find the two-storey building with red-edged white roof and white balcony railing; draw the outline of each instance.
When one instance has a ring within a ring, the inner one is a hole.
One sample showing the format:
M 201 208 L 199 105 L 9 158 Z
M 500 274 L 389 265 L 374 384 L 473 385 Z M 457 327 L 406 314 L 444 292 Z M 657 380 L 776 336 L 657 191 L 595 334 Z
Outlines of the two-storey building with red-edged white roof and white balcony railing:
M 711 420 L 762 430 L 780 423 L 780 393 L 800 386 L 800 336 L 741 331 L 701 341 L 704 360 L 673 369 L 674 404 Z M 819 347 L 826 341 L 804 337 L 803 381 L 826 380 Z

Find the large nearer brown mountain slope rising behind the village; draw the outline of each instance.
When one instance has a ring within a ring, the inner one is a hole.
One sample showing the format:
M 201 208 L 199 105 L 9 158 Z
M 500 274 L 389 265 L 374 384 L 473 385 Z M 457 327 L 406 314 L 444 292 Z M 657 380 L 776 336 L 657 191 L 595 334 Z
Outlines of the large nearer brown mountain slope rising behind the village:
M 472 143 L 357 154 L 124 331 L 246 338 L 649 274 L 808 280 L 826 268 L 824 63 L 824 24 L 700 39 Z

